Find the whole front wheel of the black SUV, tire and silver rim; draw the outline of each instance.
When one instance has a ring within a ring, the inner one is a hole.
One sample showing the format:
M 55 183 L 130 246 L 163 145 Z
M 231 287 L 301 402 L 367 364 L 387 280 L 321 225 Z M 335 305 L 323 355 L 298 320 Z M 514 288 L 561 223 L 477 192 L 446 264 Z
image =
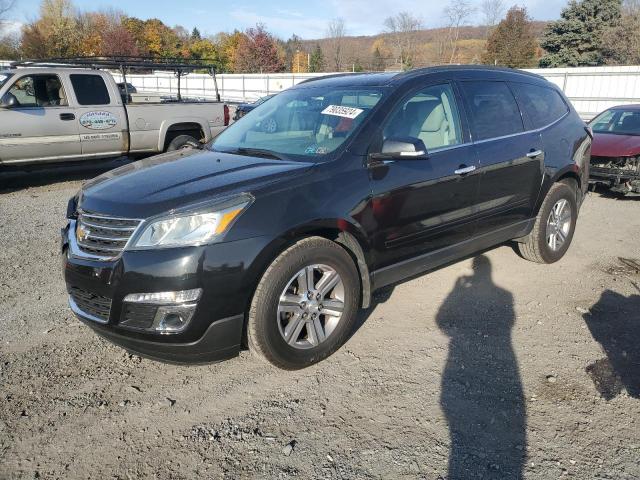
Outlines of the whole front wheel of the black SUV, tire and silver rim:
M 310 237 L 282 252 L 264 273 L 251 303 L 249 349 L 273 365 L 297 370 L 334 353 L 360 307 L 360 278 L 340 245 Z

